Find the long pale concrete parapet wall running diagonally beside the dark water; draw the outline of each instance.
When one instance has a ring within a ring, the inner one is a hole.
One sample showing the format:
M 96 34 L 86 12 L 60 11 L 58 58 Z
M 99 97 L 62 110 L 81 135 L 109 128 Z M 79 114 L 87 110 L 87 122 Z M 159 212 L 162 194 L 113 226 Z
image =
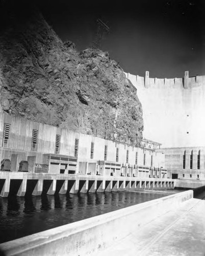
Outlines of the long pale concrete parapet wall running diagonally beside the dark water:
M 188 190 L 0 244 L 6 255 L 92 255 L 193 198 Z

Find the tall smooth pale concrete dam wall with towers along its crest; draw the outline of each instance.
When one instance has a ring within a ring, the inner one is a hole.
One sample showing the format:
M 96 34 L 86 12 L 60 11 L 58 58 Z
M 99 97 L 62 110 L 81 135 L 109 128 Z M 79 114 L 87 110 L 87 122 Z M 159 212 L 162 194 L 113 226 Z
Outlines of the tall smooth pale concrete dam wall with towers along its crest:
M 202 146 L 205 141 L 205 76 L 159 79 L 125 73 L 142 103 L 144 137 L 163 147 Z

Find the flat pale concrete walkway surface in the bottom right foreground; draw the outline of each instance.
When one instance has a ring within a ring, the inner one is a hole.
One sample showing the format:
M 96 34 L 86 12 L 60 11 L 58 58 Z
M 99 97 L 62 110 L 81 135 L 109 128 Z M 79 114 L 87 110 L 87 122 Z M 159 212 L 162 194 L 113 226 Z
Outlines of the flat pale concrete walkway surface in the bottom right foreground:
M 151 212 L 150 212 L 151 214 Z M 135 223 L 133 223 L 135 225 Z M 205 200 L 190 199 L 177 210 L 137 228 L 96 256 L 205 255 Z

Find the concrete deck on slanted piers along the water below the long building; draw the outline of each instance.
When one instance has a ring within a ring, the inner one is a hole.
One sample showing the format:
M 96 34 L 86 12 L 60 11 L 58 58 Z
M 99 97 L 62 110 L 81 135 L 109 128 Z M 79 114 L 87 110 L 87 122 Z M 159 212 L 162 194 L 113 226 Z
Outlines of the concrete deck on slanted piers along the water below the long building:
M 11 189 L 10 186 L 12 186 L 13 181 L 18 181 L 16 195 L 19 197 L 23 197 L 28 193 L 33 196 L 40 196 L 42 193 L 54 195 L 55 193 L 104 193 L 104 191 L 117 192 L 135 189 L 174 188 L 174 180 L 171 179 L 104 177 L 98 175 L 64 175 L 3 171 L 0 172 L 0 181 L 1 197 L 8 197 Z M 153 186 L 153 184 L 158 183 L 159 186 Z M 163 184 L 163 187 L 161 187 L 160 184 Z

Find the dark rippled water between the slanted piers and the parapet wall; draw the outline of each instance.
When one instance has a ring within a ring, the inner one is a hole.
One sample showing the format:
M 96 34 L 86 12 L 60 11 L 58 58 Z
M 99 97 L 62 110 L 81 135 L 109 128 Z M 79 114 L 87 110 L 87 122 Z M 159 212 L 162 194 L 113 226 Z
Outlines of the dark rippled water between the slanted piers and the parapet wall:
M 0 198 L 0 243 L 176 192 L 126 191 Z

